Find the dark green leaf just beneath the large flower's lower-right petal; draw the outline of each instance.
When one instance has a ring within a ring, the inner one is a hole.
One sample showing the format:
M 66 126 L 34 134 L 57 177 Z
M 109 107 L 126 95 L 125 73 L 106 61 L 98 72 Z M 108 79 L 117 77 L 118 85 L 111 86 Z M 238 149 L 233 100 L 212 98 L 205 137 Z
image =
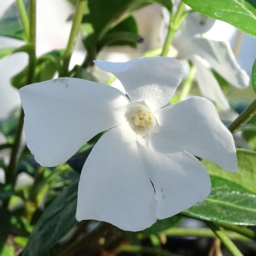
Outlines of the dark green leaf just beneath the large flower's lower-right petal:
M 177 226 L 181 219 L 179 215 L 174 215 L 167 219 L 158 219 L 151 227 L 141 231 L 141 233 L 145 235 L 158 234 L 166 229 Z

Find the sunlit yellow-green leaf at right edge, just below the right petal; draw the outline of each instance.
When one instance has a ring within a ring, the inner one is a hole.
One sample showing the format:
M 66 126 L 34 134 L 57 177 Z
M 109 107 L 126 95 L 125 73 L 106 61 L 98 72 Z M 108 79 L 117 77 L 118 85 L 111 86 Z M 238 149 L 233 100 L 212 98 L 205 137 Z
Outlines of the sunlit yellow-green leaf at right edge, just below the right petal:
M 235 173 L 225 171 L 219 165 L 208 160 L 202 160 L 202 163 L 209 174 L 233 181 L 256 194 L 256 152 L 237 149 L 237 160 L 238 170 Z

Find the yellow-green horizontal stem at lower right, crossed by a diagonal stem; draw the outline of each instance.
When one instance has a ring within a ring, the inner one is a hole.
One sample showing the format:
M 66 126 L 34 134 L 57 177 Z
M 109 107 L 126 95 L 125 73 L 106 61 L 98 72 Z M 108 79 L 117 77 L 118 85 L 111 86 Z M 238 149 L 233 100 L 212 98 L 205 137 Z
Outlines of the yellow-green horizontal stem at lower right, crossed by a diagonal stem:
M 223 231 L 226 236 L 228 236 L 232 240 L 246 240 L 243 235 L 237 234 L 232 231 Z M 212 237 L 216 238 L 214 232 L 211 229 L 182 229 L 182 228 L 170 228 L 166 229 L 165 231 L 161 232 L 161 234 L 165 234 L 166 236 L 200 236 L 200 237 Z

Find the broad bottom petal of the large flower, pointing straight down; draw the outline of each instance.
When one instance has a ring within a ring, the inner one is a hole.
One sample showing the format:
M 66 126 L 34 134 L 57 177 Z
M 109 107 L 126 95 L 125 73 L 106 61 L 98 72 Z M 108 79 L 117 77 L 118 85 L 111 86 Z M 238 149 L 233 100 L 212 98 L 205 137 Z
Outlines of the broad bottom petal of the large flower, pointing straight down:
M 143 230 L 157 219 L 154 197 L 136 143 L 123 143 L 115 127 L 101 137 L 85 162 L 78 185 L 76 219 Z

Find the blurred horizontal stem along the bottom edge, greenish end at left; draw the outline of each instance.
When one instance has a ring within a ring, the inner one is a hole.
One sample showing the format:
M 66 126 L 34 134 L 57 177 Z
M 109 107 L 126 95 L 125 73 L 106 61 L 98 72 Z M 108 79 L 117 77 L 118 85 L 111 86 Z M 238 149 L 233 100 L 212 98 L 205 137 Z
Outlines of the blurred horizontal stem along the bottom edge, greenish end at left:
M 129 253 L 144 253 L 147 255 L 162 255 L 162 256 L 178 256 L 179 254 L 170 253 L 166 250 L 157 248 L 157 247 L 145 247 L 141 245 L 129 245 L 123 244 L 118 246 L 115 251 L 117 253 L 120 252 L 129 252 Z

